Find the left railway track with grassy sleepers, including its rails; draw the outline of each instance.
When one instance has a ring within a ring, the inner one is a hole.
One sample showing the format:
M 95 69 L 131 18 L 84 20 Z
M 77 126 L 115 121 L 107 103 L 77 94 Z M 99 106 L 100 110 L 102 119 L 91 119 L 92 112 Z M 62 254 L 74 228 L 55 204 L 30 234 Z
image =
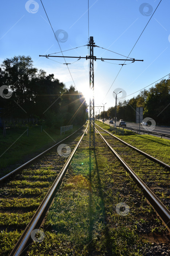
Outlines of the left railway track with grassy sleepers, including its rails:
M 14 234 L 11 249 L 21 234 L 21 240 L 23 240 L 23 236 L 29 240 L 28 222 L 32 219 L 34 223 L 33 220 L 38 215 L 38 221 L 36 220 L 36 225 L 38 225 L 40 212 L 43 215 L 49 207 L 57 185 L 67 170 L 69 163 L 66 159 L 69 155 L 74 155 L 75 148 L 80 143 L 79 138 L 81 136 L 82 139 L 84 135 L 84 131 L 82 135 L 82 130 L 84 130 L 83 127 L 0 178 L 0 230 L 4 236 L 7 233 L 11 236 Z M 42 207 L 43 202 L 44 208 Z M 27 226 L 26 231 L 23 233 L 25 226 Z M 25 235 L 25 233 L 27 234 Z M 12 251 L 11 255 L 20 255 L 20 252 L 17 249 L 15 252 Z M 7 252 L 4 252 L 4 255 L 7 255 Z

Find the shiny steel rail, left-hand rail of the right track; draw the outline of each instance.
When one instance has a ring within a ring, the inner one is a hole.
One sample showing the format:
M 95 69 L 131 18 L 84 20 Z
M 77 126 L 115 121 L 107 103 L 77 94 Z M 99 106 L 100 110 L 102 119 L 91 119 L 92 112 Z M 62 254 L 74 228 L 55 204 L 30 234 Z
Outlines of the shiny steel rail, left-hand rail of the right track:
M 95 128 L 96 129 L 96 128 Z M 96 129 L 97 130 L 97 129 Z M 97 130 L 98 131 L 98 130 Z M 131 169 L 131 167 L 119 156 L 118 153 L 110 146 L 110 144 L 104 139 L 101 133 L 98 131 L 100 137 L 106 143 L 107 147 L 112 151 L 112 153 L 119 159 L 123 167 L 130 173 L 130 176 L 137 183 L 138 187 L 142 189 L 141 192 L 145 195 L 147 200 L 150 202 L 151 206 L 159 214 L 159 217 L 162 219 L 163 224 L 170 230 L 170 211 L 166 206 L 158 199 L 158 197 L 147 187 L 147 185 L 138 177 L 138 175 Z

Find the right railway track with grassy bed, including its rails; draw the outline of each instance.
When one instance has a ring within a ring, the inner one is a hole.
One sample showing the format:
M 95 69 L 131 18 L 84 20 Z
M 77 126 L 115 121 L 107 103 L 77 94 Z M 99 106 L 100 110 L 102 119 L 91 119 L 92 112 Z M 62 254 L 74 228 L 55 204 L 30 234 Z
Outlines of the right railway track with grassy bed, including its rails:
M 116 158 L 119 159 L 127 172 L 130 173 L 133 180 L 142 189 L 142 192 L 146 196 L 147 200 L 149 200 L 150 204 L 159 214 L 164 225 L 168 227 L 170 231 L 170 211 L 169 209 L 167 209 L 167 207 L 169 207 L 170 196 L 168 172 L 170 170 L 170 166 L 144 153 L 143 151 L 138 150 L 130 144 L 127 144 L 126 142 L 120 140 L 103 128 L 99 126 L 98 128 L 100 129 L 100 131 L 102 131 L 102 134 L 95 128 L 96 132 L 100 135 L 100 137 L 106 143 L 107 147 L 109 147 L 111 152 L 116 156 Z M 151 165 L 152 161 L 154 161 L 154 165 Z M 137 163 L 141 163 L 143 167 L 142 172 L 139 172 L 139 165 Z M 158 166 L 155 166 L 156 163 Z M 161 167 L 159 167 L 159 165 L 161 165 Z M 153 169 L 151 169 L 152 166 Z M 133 169 L 131 167 L 133 167 Z M 165 168 L 167 170 L 164 170 Z M 164 180 L 162 180 L 163 170 L 165 173 Z M 154 178 L 157 178 L 157 180 L 159 181 L 159 187 L 157 181 L 154 181 L 154 179 L 152 178 L 153 175 L 150 176 L 149 172 L 154 172 Z M 142 179 L 140 178 L 140 176 L 142 177 Z M 157 193 L 156 196 L 154 192 L 158 191 L 159 193 Z M 166 195 L 166 198 L 164 198 L 164 196 L 161 197 L 160 195 Z

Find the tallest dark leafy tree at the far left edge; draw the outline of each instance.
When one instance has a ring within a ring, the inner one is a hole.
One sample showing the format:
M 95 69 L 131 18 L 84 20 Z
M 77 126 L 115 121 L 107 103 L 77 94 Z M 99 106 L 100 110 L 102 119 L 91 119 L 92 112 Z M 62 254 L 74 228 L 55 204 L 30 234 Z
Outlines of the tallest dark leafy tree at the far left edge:
M 36 77 L 37 68 L 33 67 L 30 56 L 14 56 L 5 59 L 1 64 L 1 84 L 8 85 L 13 94 L 5 105 L 5 114 L 10 116 L 24 116 L 28 111 L 29 102 L 34 100 L 35 95 L 31 89 L 31 80 Z M 16 103 L 17 102 L 17 103 Z M 19 107 L 24 109 L 24 111 Z

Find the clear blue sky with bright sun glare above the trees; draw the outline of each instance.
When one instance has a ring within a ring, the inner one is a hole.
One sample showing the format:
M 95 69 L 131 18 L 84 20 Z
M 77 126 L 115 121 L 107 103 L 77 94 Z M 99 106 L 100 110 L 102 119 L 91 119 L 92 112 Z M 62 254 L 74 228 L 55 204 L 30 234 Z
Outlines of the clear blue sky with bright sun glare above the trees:
M 89 0 L 89 36 L 94 37 L 96 45 L 128 56 L 159 0 L 146 0 L 146 2 L 144 4 L 143 0 Z M 59 29 L 66 31 L 65 42 L 60 42 L 62 50 L 87 44 L 88 0 L 43 0 L 43 4 L 54 31 Z M 144 61 L 124 65 L 107 96 L 106 93 L 121 65 L 95 61 L 95 105 L 107 102 L 105 105 L 107 110 L 108 107 L 115 105 L 112 93 L 116 88 L 122 88 L 126 95 L 129 95 L 170 73 L 169 10 L 170 1 L 162 0 L 129 56 Z M 3 1 L 0 19 L 0 63 L 13 56 L 29 55 L 35 67 L 44 69 L 47 74 L 53 73 L 55 78 L 65 83 L 67 87 L 73 84 L 66 65 L 39 57 L 39 54 L 60 51 L 41 1 Z M 62 36 L 63 34 L 60 34 L 59 38 L 62 39 Z M 88 49 L 85 46 L 64 54 L 86 56 Z M 118 54 L 100 48 L 94 48 L 94 55 L 100 58 L 124 59 Z M 62 58 L 53 58 L 53 60 L 64 63 Z M 67 62 L 72 63 L 75 60 L 67 59 Z M 123 61 L 110 62 L 124 63 Z M 126 64 L 129 63 L 130 61 L 126 61 Z M 81 59 L 69 65 L 69 68 L 76 88 L 88 97 L 88 61 Z M 137 94 L 126 97 L 126 99 Z M 121 97 L 121 94 L 119 95 Z

